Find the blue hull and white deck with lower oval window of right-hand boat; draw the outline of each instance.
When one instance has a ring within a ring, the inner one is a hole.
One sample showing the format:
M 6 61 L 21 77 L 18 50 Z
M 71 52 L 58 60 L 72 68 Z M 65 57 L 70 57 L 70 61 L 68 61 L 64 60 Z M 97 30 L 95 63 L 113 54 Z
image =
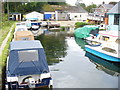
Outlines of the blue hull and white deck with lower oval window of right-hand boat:
M 107 49 L 111 51 L 107 51 Z M 113 61 L 113 62 L 120 62 L 120 58 L 118 57 L 118 52 L 115 49 L 111 49 L 109 47 L 92 47 L 90 45 L 85 45 L 85 50 L 86 52 L 89 52 L 97 57 L 103 58 L 108 61 Z

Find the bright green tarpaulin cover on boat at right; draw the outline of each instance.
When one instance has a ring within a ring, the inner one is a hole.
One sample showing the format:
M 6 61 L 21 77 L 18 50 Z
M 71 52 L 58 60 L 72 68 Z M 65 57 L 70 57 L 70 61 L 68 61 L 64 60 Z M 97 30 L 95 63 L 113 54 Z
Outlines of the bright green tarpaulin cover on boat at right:
M 74 35 L 78 38 L 89 37 L 90 34 L 96 35 L 99 32 L 99 27 L 97 26 L 84 26 L 82 28 L 77 28 Z

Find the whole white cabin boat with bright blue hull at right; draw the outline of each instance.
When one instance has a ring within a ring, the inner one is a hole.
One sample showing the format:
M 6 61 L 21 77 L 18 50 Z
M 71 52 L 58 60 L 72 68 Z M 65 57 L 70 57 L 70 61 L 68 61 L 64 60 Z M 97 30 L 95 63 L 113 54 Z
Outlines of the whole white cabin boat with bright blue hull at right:
M 99 36 L 96 39 L 91 39 L 91 41 L 100 42 L 101 45 L 85 45 L 85 50 L 105 60 L 120 62 L 120 50 L 118 48 L 120 37 L 118 36 L 118 33 L 119 32 L 117 31 L 105 31 L 104 33 L 99 33 Z

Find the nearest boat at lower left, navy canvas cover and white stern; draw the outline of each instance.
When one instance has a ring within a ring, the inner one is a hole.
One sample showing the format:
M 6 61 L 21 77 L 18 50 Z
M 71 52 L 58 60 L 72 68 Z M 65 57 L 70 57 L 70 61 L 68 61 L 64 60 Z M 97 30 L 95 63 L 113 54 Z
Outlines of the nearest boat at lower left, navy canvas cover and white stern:
M 52 86 L 46 55 L 40 41 L 11 42 L 6 80 L 7 88 L 12 90 Z

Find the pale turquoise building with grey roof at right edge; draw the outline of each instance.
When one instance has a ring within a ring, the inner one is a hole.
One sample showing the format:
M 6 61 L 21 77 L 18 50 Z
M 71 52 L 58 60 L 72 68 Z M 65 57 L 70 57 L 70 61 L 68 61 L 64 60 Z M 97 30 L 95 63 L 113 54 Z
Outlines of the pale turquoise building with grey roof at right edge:
M 120 1 L 107 14 L 109 16 L 108 29 L 120 31 Z

